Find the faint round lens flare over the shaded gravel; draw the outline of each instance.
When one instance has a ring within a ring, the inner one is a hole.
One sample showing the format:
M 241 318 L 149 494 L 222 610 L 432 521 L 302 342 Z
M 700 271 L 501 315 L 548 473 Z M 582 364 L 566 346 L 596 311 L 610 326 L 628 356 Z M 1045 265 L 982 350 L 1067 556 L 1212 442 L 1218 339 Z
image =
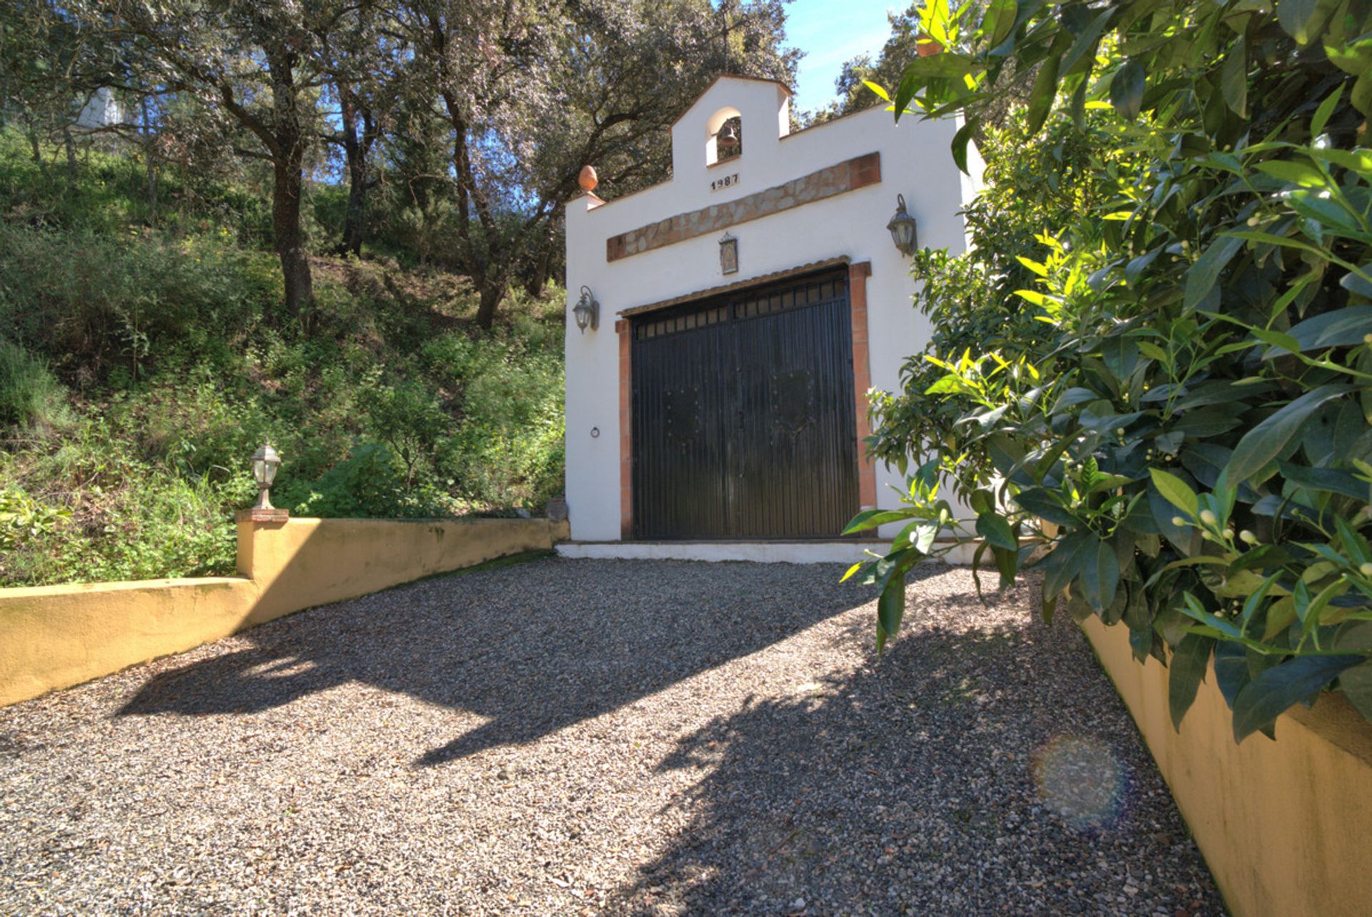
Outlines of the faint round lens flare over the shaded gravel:
M 1039 799 L 1073 828 L 1111 824 L 1124 806 L 1124 770 L 1110 747 L 1083 736 L 1059 736 L 1033 763 Z

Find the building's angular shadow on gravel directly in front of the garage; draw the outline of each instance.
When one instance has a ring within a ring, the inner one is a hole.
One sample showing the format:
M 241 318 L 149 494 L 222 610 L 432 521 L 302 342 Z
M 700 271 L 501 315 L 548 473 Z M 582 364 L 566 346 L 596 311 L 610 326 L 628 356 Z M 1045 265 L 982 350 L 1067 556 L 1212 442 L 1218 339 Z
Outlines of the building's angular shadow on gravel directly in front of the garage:
M 119 715 L 254 714 L 361 681 L 490 718 L 417 762 L 440 765 L 538 740 L 870 600 L 840 574 L 546 559 L 436 578 L 254 629 L 252 648 L 154 675 Z

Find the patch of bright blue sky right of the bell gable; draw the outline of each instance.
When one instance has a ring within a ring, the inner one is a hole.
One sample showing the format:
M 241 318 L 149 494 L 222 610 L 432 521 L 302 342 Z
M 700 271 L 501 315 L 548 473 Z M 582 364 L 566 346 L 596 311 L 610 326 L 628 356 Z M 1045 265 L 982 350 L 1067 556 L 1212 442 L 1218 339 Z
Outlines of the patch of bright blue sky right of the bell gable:
M 890 34 L 888 11 L 904 10 L 888 0 L 793 0 L 786 4 L 786 43 L 800 48 L 796 108 L 812 111 L 834 97 L 834 78 L 844 62 L 867 52 L 874 58 Z

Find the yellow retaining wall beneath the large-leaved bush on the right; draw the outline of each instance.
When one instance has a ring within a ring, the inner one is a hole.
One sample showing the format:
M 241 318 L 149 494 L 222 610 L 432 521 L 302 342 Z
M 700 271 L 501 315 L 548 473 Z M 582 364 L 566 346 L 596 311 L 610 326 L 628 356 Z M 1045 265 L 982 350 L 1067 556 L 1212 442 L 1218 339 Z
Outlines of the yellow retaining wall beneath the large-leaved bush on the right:
M 1181 723 L 1168 714 L 1168 670 L 1143 666 L 1125 627 L 1083 625 L 1232 913 L 1372 913 L 1372 723 L 1342 697 L 1277 719 L 1276 741 L 1235 744 L 1211 667 Z

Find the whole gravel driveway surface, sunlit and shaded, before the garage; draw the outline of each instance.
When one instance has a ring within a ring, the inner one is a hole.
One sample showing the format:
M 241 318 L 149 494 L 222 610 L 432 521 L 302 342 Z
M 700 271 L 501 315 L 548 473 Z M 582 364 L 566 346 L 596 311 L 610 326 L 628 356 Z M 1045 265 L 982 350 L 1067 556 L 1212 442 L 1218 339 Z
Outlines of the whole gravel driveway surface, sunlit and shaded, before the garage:
M 543 559 L 0 710 L 3 914 L 1221 902 L 1085 640 L 921 568 Z

